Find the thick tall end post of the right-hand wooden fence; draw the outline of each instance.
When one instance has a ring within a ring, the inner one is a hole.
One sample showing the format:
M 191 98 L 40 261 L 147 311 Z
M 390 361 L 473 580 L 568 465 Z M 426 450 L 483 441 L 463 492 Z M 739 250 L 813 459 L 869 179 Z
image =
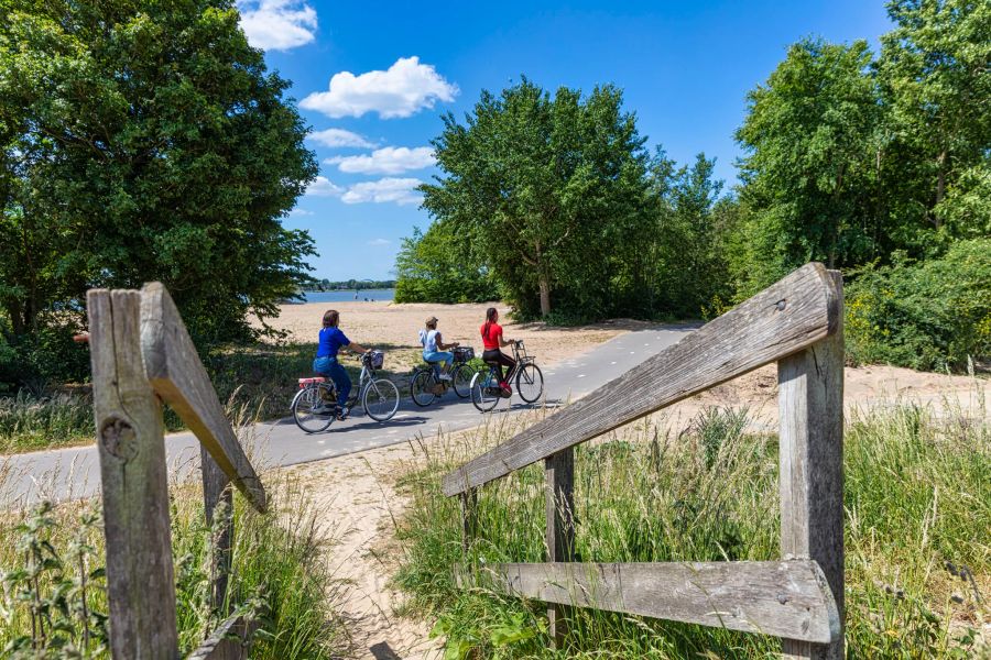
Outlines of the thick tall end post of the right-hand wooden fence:
M 818 562 L 836 600 L 840 636 L 830 645 L 782 640 L 785 658 L 843 658 L 843 331 L 842 276 L 838 327 L 777 363 L 781 416 L 781 551 Z

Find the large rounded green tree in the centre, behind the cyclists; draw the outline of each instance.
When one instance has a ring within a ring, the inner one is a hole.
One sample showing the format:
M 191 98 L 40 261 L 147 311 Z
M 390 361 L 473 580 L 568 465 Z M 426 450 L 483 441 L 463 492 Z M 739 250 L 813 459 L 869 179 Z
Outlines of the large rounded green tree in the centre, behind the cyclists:
M 618 89 L 552 99 L 524 78 L 483 91 L 464 125 L 447 114 L 433 145 L 444 176 L 424 207 L 482 245 L 524 315 L 548 315 L 552 295 L 590 316 L 608 306 L 618 248 L 646 218 L 643 139 Z

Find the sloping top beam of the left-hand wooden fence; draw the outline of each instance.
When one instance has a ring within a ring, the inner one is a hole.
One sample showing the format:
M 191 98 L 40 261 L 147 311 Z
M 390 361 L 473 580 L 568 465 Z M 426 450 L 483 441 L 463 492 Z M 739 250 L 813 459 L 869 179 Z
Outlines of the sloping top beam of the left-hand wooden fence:
M 238 442 L 175 302 L 157 282 L 141 289 L 141 353 L 155 393 L 178 414 L 248 502 L 264 512 L 261 480 Z

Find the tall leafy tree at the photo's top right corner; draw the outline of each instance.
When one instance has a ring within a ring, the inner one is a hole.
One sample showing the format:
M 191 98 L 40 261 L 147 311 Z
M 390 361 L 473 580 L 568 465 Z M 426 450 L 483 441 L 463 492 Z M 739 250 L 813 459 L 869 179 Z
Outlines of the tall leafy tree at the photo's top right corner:
M 887 11 L 895 29 L 881 37 L 876 68 L 891 134 L 893 210 L 916 231 L 987 235 L 991 4 L 893 0 Z

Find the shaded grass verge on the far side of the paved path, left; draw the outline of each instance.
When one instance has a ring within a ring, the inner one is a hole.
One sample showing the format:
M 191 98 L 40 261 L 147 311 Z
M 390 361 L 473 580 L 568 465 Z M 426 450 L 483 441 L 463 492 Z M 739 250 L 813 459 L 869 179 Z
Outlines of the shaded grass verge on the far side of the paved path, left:
M 394 346 L 378 346 L 391 352 Z M 409 351 L 396 351 L 396 360 L 386 356 L 386 367 L 405 366 Z M 258 410 L 259 419 L 277 419 L 288 415 L 296 393 L 297 380 L 313 373 L 316 343 L 285 343 L 236 346 L 216 350 L 204 365 L 221 402 L 233 400 Z M 360 365 L 345 361 L 351 381 L 358 382 Z M 380 376 L 396 378 L 390 371 Z M 92 441 L 92 397 L 87 387 L 48 388 L 36 395 L 21 391 L 14 396 L 0 396 L 0 453 L 19 453 L 69 447 Z M 400 393 L 405 396 L 403 389 Z M 182 421 L 165 410 L 168 431 L 183 430 Z

